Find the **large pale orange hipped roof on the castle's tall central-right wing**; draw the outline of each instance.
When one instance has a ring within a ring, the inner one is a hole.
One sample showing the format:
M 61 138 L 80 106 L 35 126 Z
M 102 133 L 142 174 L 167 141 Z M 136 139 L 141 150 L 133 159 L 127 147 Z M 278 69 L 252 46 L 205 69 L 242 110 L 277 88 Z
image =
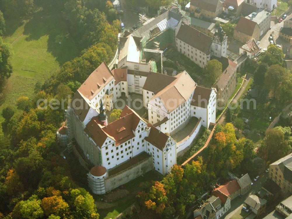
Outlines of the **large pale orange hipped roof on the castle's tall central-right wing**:
M 151 99 L 153 100 L 159 97 L 169 112 L 172 112 L 178 106 L 183 104 L 190 97 L 193 90 L 197 86 L 186 71 L 179 73 L 175 77 L 176 79 L 173 82 L 167 85 L 164 89 L 160 90 Z M 175 101 L 171 101 L 171 103 L 169 103 L 169 100 Z

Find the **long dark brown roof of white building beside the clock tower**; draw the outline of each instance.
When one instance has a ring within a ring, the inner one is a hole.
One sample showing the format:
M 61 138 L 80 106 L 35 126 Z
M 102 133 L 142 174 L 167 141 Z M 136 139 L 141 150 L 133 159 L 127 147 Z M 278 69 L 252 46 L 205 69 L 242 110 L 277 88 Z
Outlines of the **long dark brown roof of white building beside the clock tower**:
M 212 37 L 209 37 L 194 27 L 182 23 L 176 38 L 196 49 L 199 49 L 207 55 L 211 52 Z

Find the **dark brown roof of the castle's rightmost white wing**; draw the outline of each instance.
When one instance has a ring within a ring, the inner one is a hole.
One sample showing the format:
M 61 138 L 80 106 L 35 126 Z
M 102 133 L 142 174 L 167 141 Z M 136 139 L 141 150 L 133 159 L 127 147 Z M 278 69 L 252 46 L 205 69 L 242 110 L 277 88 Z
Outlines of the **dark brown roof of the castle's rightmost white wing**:
M 212 89 L 197 86 L 191 101 L 192 106 L 207 108 Z M 201 101 L 199 101 L 201 100 Z M 205 101 L 206 100 L 206 101 Z

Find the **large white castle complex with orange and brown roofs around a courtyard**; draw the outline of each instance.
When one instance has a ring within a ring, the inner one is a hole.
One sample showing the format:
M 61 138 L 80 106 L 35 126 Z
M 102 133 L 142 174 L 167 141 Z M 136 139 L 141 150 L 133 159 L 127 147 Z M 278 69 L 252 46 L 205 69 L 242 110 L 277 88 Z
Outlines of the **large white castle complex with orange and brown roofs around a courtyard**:
M 135 63 L 136 67 L 143 65 Z M 140 168 L 138 175 L 133 174 L 126 181 L 113 182 L 111 178 L 121 165 L 145 154 L 152 157 L 151 168 L 163 175 L 169 173 L 177 153 L 189 146 L 179 146 L 171 135 L 185 127 L 192 116 L 199 118 L 197 130 L 201 125 L 208 128 L 215 123 L 215 89 L 197 86 L 186 71 L 172 77 L 150 70 L 124 67 L 110 71 L 102 63 L 79 87 L 67 110 L 69 139 L 75 140 L 94 165 L 88 182 L 96 194 L 108 192 L 149 170 Z M 105 110 L 111 111 L 114 102 L 129 92 L 143 95 L 149 121 L 126 106 L 120 119 L 108 124 Z

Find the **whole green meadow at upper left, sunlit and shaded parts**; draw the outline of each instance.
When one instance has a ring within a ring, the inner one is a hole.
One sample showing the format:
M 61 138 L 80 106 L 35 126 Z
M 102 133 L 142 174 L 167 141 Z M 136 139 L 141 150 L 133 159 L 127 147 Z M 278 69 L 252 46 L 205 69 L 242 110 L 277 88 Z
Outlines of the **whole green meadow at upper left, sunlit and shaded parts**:
M 47 10 L 40 9 L 27 20 L 6 20 L 4 41 L 12 45 L 13 73 L 0 110 L 15 104 L 19 96 L 32 96 L 37 81 L 45 82 L 60 65 L 79 54 L 61 13 Z

